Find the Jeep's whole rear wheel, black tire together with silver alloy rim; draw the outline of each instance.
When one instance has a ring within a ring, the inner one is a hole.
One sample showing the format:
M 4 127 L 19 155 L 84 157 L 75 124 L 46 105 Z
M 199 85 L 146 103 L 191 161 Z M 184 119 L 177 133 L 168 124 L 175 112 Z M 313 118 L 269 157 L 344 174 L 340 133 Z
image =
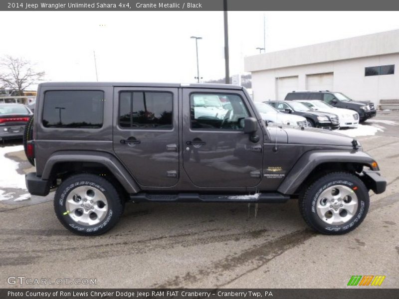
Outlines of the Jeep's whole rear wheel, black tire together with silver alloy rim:
M 94 236 L 105 233 L 118 222 L 123 202 L 105 178 L 77 174 L 59 185 L 54 210 L 62 225 L 73 233 Z

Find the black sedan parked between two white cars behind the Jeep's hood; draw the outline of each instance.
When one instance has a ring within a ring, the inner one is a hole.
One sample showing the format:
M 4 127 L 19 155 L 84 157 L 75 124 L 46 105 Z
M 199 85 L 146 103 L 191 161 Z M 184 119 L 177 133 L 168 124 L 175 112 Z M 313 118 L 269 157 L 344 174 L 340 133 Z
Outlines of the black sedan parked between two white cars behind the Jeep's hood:
M 340 128 L 340 121 L 337 115 L 328 112 L 315 112 L 302 103 L 295 101 L 267 101 L 267 103 L 283 113 L 292 113 L 306 118 L 308 127 L 315 127 L 326 130 Z

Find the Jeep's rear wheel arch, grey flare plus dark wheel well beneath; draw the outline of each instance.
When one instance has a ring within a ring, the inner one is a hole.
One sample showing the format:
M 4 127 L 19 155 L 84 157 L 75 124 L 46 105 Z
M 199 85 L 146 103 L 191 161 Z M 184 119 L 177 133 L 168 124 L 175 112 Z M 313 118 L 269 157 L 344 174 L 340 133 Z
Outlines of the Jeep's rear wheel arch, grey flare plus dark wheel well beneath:
M 127 193 L 137 193 L 140 187 L 125 166 L 111 153 L 62 150 L 54 152 L 47 160 L 41 178 L 52 181 L 62 173 L 78 173 L 91 170 L 99 175 L 111 177 L 117 181 Z

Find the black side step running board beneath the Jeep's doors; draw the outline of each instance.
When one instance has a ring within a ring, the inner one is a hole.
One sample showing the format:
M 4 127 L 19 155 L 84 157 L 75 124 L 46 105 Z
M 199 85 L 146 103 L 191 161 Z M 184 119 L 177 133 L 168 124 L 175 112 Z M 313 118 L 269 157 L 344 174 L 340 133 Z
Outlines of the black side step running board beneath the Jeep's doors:
M 133 202 L 268 202 L 280 203 L 290 199 L 289 195 L 281 193 L 255 193 L 249 195 L 223 195 L 223 194 L 199 194 L 199 193 L 178 193 L 178 194 L 131 194 Z

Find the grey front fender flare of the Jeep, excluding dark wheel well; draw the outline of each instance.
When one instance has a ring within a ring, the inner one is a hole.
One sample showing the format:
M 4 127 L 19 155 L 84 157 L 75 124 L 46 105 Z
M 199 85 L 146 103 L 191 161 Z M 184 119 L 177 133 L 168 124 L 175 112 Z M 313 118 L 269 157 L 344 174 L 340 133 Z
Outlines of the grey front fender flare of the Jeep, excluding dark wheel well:
M 372 167 L 374 159 L 364 151 L 310 150 L 305 152 L 278 187 L 282 194 L 292 195 L 318 165 L 326 162 L 359 163 Z M 379 170 L 374 168 L 373 170 Z

